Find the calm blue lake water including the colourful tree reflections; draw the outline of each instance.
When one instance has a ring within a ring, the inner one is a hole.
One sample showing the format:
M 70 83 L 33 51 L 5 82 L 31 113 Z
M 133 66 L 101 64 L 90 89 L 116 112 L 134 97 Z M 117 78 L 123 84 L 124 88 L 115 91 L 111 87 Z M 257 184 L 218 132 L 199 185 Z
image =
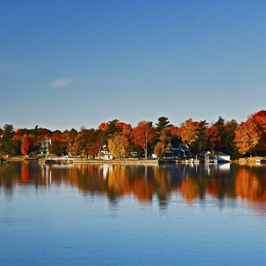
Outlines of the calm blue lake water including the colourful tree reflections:
M 0 265 L 266 265 L 266 165 L 0 164 Z

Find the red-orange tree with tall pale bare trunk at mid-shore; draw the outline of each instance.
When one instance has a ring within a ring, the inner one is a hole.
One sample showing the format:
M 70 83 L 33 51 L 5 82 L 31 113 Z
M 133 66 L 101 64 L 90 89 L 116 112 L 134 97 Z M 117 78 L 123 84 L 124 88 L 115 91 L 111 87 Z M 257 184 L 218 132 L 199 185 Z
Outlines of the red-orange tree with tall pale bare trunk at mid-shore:
M 147 159 L 147 151 L 149 145 L 152 143 L 155 133 L 152 128 L 152 122 L 140 121 L 138 125 L 132 130 L 133 142 L 140 145 L 144 149 L 145 158 Z

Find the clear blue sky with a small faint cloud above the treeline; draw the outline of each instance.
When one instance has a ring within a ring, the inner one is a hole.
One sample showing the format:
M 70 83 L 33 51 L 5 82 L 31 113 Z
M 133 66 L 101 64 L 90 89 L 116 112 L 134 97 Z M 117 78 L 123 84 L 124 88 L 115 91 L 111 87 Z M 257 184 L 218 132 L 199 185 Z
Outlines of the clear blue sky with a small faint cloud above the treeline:
M 246 121 L 265 109 L 265 1 L 1 1 L 0 126 Z

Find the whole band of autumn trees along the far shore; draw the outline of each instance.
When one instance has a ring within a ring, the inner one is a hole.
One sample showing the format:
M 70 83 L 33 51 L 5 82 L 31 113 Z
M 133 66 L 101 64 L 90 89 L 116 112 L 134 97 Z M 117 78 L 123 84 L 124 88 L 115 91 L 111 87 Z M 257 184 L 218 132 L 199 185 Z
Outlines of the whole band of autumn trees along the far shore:
M 14 129 L 5 124 L 0 128 L 0 155 L 25 154 L 40 146 L 42 140 L 52 138 L 50 154 L 66 154 L 82 157 L 101 155 L 103 146 L 115 158 L 130 157 L 137 152 L 138 157 L 147 158 L 154 153 L 161 158 L 169 152 L 169 142 L 180 138 L 186 142 L 192 153 L 202 154 L 206 150 L 230 154 L 232 159 L 239 155 L 262 155 L 266 150 L 266 111 L 262 110 L 247 117 L 240 125 L 236 120 L 226 121 L 219 117 L 216 122 L 193 121 L 192 118 L 174 126 L 167 117 L 159 117 L 155 125 L 151 121 L 140 121 L 135 128 L 115 119 L 99 125 L 98 129 L 71 129 L 61 132 L 46 128 Z M 72 142 L 69 146 L 68 142 Z M 100 157 L 100 156 L 99 156 Z

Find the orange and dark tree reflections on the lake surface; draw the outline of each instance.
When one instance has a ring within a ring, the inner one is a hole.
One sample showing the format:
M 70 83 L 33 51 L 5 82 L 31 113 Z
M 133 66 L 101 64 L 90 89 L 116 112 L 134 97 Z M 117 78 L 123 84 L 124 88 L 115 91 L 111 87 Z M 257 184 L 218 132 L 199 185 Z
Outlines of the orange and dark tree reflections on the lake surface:
M 266 202 L 264 164 L 39 164 L 9 163 L 0 166 L 0 187 L 12 194 L 18 186 L 75 186 L 83 195 L 107 197 L 111 203 L 133 195 L 142 204 L 156 199 L 167 206 L 172 195 L 188 203 L 206 196 Z

